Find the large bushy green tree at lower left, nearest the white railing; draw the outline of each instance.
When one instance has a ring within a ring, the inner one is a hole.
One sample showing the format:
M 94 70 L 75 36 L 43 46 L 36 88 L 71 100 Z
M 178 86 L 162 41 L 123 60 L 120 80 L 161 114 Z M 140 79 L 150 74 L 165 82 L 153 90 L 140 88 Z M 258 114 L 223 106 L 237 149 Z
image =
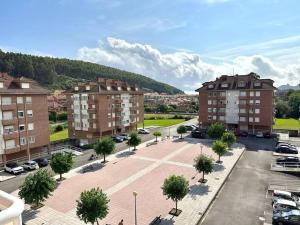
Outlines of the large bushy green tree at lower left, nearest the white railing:
M 47 170 L 29 174 L 20 187 L 19 196 L 26 204 L 38 207 L 55 190 L 56 183 Z

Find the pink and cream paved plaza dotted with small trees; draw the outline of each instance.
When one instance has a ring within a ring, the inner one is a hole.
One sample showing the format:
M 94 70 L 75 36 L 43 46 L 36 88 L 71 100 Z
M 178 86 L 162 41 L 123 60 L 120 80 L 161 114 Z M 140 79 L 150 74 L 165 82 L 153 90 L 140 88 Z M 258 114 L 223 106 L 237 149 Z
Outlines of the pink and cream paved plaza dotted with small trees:
M 207 176 L 206 184 L 197 182 L 201 175 L 193 167 L 194 158 L 201 151 L 217 159 L 209 141 L 185 138 L 165 140 L 149 147 L 142 144 L 134 153 L 119 152 L 109 156 L 109 162 L 93 172 L 81 173 L 80 168 L 74 169 L 65 175 L 67 179 L 44 207 L 25 211 L 24 222 L 28 225 L 84 224 L 76 216 L 76 200 L 83 190 L 100 187 L 110 198 L 109 214 L 100 224 L 117 225 L 123 219 L 124 225 L 133 225 L 134 191 L 138 193 L 139 225 L 148 225 L 159 215 L 164 218 L 162 224 L 196 224 L 240 157 L 243 146 L 236 145 L 222 158 L 222 165 L 215 165 L 216 171 Z M 183 175 L 190 184 L 189 194 L 178 204 L 183 212 L 177 218 L 168 215 L 175 204 L 163 196 L 161 189 L 164 179 L 173 174 Z

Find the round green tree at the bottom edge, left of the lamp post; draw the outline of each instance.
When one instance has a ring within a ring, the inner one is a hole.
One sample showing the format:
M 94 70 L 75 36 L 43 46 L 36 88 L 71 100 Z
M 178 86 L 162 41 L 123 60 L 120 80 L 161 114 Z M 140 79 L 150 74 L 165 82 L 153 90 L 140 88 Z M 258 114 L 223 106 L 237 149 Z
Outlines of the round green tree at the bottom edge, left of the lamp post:
M 99 188 L 82 192 L 76 202 L 76 214 L 85 223 L 99 224 L 98 219 L 101 220 L 108 214 L 109 199 Z

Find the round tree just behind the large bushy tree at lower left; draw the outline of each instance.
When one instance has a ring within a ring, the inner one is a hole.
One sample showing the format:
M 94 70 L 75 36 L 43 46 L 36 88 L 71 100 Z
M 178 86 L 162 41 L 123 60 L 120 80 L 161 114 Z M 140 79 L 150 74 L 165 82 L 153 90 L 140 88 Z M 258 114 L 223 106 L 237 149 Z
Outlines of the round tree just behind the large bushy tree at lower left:
M 62 174 L 67 173 L 73 166 L 73 156 L 71 153 L 55 153 L 51 157 L 50 166 L 55 173 L 59 174 L 59 179 L 62 180 Z

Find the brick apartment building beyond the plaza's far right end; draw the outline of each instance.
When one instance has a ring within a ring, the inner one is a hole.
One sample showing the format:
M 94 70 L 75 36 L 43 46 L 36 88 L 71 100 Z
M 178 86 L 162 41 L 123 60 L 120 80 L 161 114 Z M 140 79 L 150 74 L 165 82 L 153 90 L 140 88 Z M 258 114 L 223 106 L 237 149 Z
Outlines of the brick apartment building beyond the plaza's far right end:
M 223 123 L 232 131 L 271 132 L 274 122 L 274 81 L 259 75 L 222 75 L 205 82 L 199 92 L 199 125 Z

